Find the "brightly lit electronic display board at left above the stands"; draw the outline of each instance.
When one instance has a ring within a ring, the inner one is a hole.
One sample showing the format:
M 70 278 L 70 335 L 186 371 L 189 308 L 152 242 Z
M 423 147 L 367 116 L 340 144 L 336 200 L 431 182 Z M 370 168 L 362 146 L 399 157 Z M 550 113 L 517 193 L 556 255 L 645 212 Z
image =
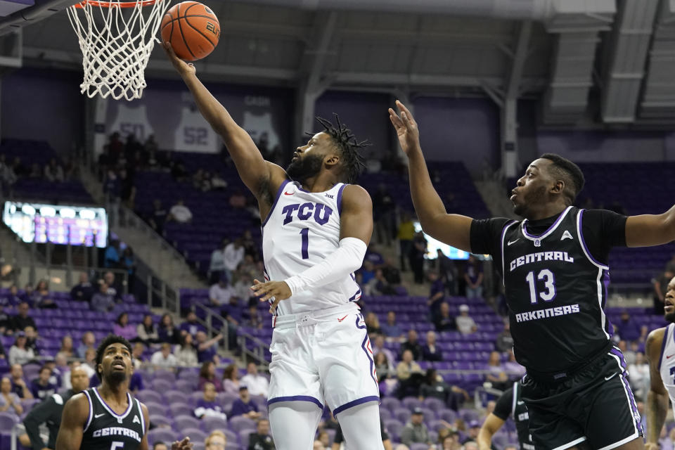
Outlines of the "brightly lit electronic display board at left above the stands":
M 42 203 L 5 202 L 2 221 L 24 242 L 85 245 L 105 248 L 105 208 Z

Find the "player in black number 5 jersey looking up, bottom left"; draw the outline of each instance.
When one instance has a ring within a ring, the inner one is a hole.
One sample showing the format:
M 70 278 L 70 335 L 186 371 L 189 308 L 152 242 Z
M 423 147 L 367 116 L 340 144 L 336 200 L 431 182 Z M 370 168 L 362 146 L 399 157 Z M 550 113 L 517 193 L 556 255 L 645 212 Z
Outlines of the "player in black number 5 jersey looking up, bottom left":
M 129 341 L 108 335 L 96 350 L 101 386 L 65 404 L 56 450 L 148 450 L 148 408 L 129 394 L 133 371 Z M 172 444 L 172 450 L 191 448 L 188 438 Z

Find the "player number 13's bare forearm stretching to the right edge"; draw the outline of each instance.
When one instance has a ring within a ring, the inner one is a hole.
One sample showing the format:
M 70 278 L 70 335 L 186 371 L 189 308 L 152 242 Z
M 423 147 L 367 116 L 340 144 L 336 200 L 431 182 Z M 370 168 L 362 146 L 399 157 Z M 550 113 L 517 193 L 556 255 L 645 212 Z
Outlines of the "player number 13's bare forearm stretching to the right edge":
M 643 214 L 626 220 L 626 245 L 652 247 L 675 240 L 675 206 L 663 214 Z

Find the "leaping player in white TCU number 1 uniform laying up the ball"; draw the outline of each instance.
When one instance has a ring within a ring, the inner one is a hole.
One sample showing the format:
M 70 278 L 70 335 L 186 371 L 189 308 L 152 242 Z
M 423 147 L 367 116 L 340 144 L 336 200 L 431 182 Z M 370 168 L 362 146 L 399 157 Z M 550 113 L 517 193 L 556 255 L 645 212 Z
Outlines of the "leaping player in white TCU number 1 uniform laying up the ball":
M 205 88 L 191 64 L 165 49 L 207 122 L 222 137 L 258 200 L 274 333 L 269 421 L 276 448 L 311 450 L 324 405 L 352 450 L 383 449 L 373 354 L 353 272 L 373 232 L 373 205 L 354 183 L 359 143 L 338 121 L 298 147 L 287 169 L 265 161 L 248 133 Z

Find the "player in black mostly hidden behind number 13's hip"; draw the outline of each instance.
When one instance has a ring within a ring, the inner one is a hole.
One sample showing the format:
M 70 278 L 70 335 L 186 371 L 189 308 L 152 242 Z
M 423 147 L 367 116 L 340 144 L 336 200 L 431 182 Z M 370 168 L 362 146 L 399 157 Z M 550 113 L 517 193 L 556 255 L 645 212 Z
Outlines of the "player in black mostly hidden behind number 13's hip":
M 489 413 L 483 422 L 480 432 L 478 432 L 478 448 L 480 450 L 490 450 L 493 448 L 492 437 L 508 420 L 508 416 L 513 417 L 515 422 L 515 430 L 518 432 L 518 442 L 521 450 L 534 450 L 532 444 L 532 437 L 529 435 L 529 413 L 525 401 L 520 397 L 521 389 L 520 382 L 516 381 L 512 387 L 504 391 L 497 404 L 494 406 L 494 411 Z

